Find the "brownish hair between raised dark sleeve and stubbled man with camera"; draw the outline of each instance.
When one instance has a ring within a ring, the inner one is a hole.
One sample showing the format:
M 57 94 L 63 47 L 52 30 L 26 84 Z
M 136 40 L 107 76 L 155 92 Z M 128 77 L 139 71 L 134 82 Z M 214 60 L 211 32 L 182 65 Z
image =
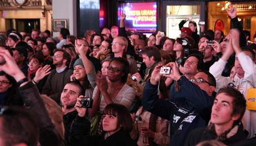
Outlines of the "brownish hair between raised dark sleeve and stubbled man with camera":
M 55 125 L 57 132 L 61 138 L 64 139 L 64 124 L 63 124 L 63 112 L 61 107 L 46 95 L 41 95 L 43 102 L 45 102 L 46 110 L 51 118 L 52 123 Z

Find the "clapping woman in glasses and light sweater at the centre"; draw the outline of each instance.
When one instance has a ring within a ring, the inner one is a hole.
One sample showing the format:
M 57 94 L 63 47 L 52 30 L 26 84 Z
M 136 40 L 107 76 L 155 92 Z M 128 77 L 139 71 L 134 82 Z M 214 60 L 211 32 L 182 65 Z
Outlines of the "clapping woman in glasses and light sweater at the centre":
M 106 73 L 104 73 L 106 74 Z M 90 117 L 100 119 L 103 109 L 110 103 L 119 103 L 130 109 L 135 98 L 135 91 L 126 84 L 129 74 L 129 63 L 122 58 L 114 58 L 107 66 L 107 76 L 100 72 L 97 75 L 97 87 L 93 91 L 93 106 L 88 110 Z M 98 126 L 101 126 L 102 118 L 94 123 L 93 133 Z M 94 119 L 93 119 L 94 120 Z M 95 123 L 99 122 L 95 126 Z M 92 126 L 92 124 L 91 124 Z M 98 130 L 101 128 L 99 127 Z M 101 133 L 100 131 L 98 131 Z

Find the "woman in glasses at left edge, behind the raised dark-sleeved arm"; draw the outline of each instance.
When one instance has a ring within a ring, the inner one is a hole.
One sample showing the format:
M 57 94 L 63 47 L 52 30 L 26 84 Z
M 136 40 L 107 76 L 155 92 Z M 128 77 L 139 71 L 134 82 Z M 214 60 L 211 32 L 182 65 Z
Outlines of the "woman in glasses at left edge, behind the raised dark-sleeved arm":
M 23 106 L 13 77 L 0 71 L 0 106 Z

